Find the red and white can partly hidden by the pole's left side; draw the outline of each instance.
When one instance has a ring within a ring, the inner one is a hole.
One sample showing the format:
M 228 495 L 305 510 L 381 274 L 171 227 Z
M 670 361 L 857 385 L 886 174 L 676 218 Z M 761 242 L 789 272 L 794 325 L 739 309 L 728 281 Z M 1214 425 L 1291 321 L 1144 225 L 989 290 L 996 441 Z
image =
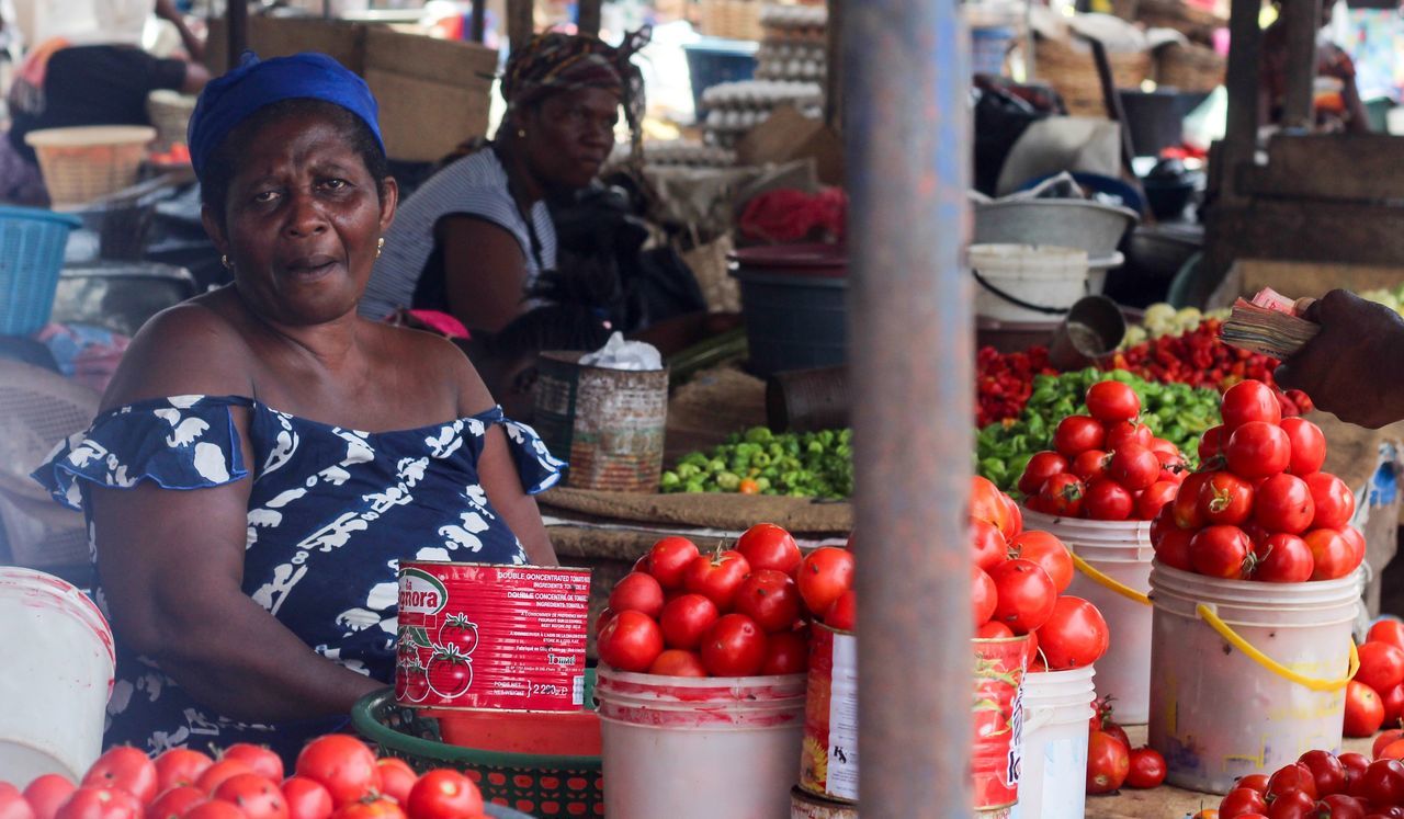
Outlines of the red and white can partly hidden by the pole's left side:
M 858 639 L 823 623 L 810 634 L 799 787 L 858 802 Z

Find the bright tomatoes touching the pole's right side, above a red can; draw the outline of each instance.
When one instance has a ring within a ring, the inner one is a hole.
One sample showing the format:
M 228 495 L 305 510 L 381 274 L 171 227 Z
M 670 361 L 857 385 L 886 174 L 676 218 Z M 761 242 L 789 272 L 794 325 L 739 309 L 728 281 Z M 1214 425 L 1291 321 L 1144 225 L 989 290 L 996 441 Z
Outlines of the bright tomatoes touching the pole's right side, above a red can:
M 1047 532 L 1024 529 L 1019 506 L 990 481 L 970 485 L 970 604 L 976 637 L 1028 634 L 1029 670 L 1097 662 L 1111 641 L 1097 606 L 1060 596 L 1073 582 L 1073 557 Z

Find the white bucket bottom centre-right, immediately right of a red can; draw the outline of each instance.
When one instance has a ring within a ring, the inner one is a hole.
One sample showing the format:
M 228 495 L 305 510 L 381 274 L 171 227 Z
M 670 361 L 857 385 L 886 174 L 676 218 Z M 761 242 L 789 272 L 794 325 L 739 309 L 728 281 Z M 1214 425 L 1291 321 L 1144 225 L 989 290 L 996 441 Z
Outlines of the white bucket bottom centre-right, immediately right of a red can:
M 1092 666 L 1024 676 L 1024 771 L 1015 819 L 1081 819 Z

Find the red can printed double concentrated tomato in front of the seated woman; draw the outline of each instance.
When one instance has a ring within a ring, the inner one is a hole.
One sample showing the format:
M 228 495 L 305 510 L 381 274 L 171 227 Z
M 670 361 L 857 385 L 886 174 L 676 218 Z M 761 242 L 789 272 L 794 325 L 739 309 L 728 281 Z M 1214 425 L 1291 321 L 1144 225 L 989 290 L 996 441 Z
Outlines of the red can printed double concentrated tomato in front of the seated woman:
M 402 562 L 396 700 L 578 710 L 588 603 L 590 569 Z

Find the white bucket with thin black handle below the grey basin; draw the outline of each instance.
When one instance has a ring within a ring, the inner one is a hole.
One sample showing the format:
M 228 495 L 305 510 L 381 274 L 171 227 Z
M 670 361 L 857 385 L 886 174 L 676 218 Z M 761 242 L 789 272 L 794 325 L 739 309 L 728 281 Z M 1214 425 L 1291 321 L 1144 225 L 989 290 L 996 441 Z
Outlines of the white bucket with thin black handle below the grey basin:
M 1087 251 L 1039 244 L 973 244 L 976 316 L 1057 321 L 1088 293 Z

